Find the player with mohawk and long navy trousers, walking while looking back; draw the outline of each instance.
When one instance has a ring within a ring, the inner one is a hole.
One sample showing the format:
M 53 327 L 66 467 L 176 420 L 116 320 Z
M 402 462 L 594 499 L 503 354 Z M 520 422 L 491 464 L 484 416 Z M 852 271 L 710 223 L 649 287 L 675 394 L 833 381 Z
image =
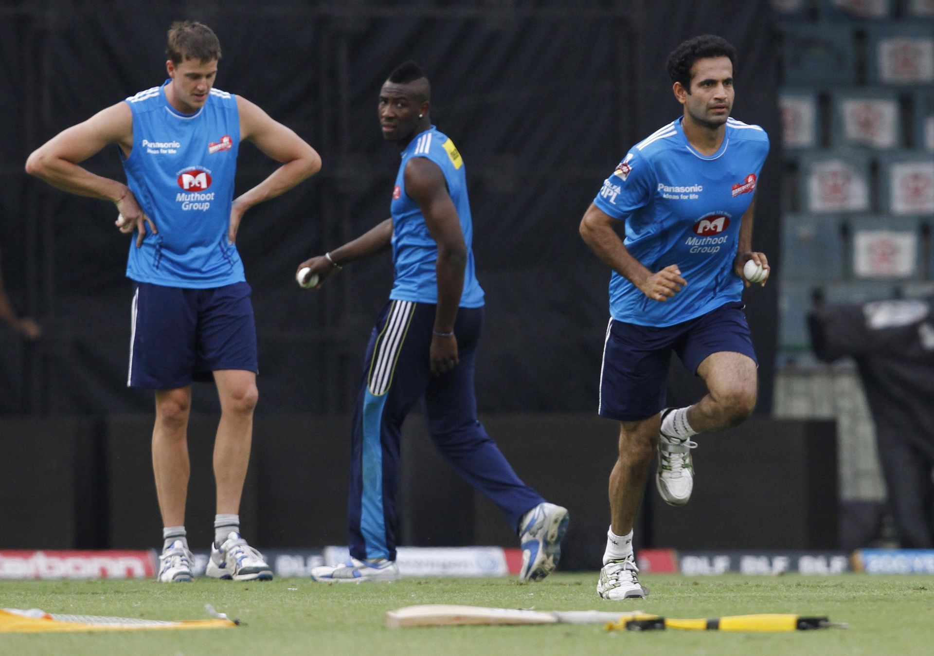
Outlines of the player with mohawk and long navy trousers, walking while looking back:
M 568 511 L 517 478 L 476 419 L 474 359 L 483 290 L 474 275 L 473 221 L 463 160 L 429 117 L 431 87 L 414 62 L 379 95 L 383 136 L 402 150 L 391 217 L 338 249 L 299 264 L 323 281 L 346 264 L 392 249 L 389 304 L 376 321 L 354 412 L 348 519 L 350 559 L 317 567 L 319 581 L 394 580 L 399 441 L 405 415 L 424 399 L 435 447 L 502 510 L 522 547 L 519 578 L 558 563 Z M 318 287 L 320 282 L 318 283 Z

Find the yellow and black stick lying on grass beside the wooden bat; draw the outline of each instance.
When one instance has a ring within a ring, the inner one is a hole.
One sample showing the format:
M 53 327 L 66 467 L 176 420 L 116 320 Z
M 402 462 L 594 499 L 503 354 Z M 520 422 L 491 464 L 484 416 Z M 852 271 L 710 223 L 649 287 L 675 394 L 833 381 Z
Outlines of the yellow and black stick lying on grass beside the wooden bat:
M 709 620 L 675 620 L 663 617 L 620 618 L 607 622 L 606 631 L 742 631 L 781 632 L 810 631 L 813 629 L 846 628 L 846 624 L 832 622 L 826 617 L 766 613 L 760 615 L 734 615 Z

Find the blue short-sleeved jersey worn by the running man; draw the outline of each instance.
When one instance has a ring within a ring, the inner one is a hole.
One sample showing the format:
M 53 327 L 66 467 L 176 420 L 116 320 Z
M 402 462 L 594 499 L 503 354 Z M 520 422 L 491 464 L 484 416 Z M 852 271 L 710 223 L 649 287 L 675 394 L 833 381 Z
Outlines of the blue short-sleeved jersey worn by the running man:
M 626 221 L 623 243 L 633 257 L 653 273 L 677 264 L 687 285 L 662 303 L 614 271 L 610 314 L 616 321 L 670 326 L 741 300 L 743 280 L 733 271 L 740 220 L 768 154 L 762 128 L 731 118 L 713 155 L 690 146 L 680 119 L 629 151 L 594 205 Z

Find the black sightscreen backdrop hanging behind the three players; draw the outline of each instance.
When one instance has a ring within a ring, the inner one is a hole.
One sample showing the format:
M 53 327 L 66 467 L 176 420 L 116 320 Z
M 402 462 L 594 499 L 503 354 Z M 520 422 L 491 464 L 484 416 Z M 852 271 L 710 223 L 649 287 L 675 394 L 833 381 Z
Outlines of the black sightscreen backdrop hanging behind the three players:
M 103 107 L 162 82 L 173 20 L 204 21 L 223 48 L 217 87 L 242 94 L 321 154 L 323 170 L 248 212 L 238 247 L 260 339 L 259 412 L 346 412 L 389 292 L 388 255 L 348 266 L 320 292 L 293 278 L 304 258 L 389 212 L 398 153 L 376 122 L 389 71 L 414 58 L 433 84 L 432 119 L 457 143 L 487 292 L 477 364 L 483 411 L 595 411 L 609 271 L 577 226 L 626 150 L 681 111 L 670 50 L 712 32 L 739 50 L 733 115 L 761 124 L 772 154 L 754 244 L 778 263 L 774 36 L 768 3 L 702 2 L 6 2 L 0 4 L 0 253 L 7 290 L 45 337 L 0 326 L 0 412 L 146 411 L 128 390 L 128 238 L 106 202 L 22 171 L 31 150 Z M 116 147 L 94 172 L 123 179 Z M 237 193 L 275 168 L 241 150 Z M 747 292 L 771 406 L 775 288 Z M 673 379 L 688 395 L 689 376 Z M 217 406 L 198 386 L 195 409 Z M 693 392 L 690 392 L 693 393 Z M 692 401 L 687 398 L 686 401 Z

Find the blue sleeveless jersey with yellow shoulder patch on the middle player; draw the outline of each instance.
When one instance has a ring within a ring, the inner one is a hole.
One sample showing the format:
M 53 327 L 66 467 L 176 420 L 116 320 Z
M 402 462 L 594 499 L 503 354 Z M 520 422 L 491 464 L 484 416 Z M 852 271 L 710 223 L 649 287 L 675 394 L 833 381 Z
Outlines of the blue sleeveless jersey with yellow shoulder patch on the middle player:
M 438 245 L 428 231 L 425 217 L 418 204 L 405 193 L 405 164 L 413 157 L 424 157 L 438 164 L 445 175 L 447 193 L 454 201 L 460 217 L 460 230 L 467 245 L 467 265 L 464 267 L 464 289 L 460 307 L 482 307 L 483 290 L 474 271 L 474 221 L 471 219 L 467 198 L 467 178 L 463 160 L 446 135 L 431 129 L 416 135 L 402 152 L 403 161 L 396 175 L 389 210 L 392 214 L 392 263 L 395 281 L 389 298 L 415 303 L 438 302 L 438 278 L 435 263 Z

